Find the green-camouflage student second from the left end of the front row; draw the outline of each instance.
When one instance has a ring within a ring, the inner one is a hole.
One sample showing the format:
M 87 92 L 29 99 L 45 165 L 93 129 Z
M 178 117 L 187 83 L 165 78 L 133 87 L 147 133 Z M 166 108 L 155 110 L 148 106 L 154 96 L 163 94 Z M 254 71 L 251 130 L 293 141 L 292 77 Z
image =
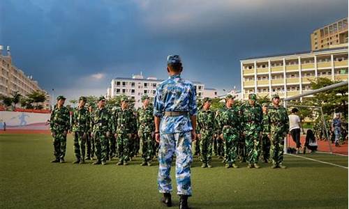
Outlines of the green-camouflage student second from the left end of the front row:
M 73 164 L 84 163 L 86 153 L 85 144 L 91 125 L 89 111 L 84 107 L 86 101 L 87 99 L 85 97 L 79 98 L 79 104 L 77 105 L 75 111 L 73 111 L 71 120 L 74 137 L 74 153 L 76 157 L 76 161 L 73 162 Z

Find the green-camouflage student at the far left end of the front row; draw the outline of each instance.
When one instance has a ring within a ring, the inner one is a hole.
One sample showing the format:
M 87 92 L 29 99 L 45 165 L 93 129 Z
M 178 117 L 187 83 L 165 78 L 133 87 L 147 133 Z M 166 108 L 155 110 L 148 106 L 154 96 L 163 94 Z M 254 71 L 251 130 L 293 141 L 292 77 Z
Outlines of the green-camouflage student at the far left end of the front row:
M 57 104 L 52 110 L 50 117 L 50 130 L 53 137 L 54 157 L 51 162 L 64 163 L 66 155 L 66 135 L 70 130 L 70 113 L 68 108 L 64 107 L 66 98 L 63 95 L 57 97 Z

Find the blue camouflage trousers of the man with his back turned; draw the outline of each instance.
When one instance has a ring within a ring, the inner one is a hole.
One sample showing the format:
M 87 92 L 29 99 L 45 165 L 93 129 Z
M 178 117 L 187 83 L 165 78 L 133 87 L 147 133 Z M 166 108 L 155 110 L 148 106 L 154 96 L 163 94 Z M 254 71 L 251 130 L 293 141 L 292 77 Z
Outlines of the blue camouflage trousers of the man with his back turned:
M 170 170 L 174 155 L 176 155 L 177 194 L 191 196 L 191 162 L 193 162 L 191 132 L 161 134 L 158 150 L 158 191 L 161 193 L 172 192 Z

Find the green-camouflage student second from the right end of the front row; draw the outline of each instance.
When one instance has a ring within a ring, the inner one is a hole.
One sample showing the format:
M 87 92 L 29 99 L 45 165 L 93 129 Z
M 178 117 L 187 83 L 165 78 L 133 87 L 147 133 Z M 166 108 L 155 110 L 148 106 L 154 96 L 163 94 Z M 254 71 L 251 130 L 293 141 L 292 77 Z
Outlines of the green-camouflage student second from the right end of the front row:
M 248 102 L 240 108 L 242 128 L 245 137 L 246 161 L 248 168 L 259 169 L 260 157 L 260 132 L 262 130 L 262 107 L 256 103 L 257 95 L 248 95 Z

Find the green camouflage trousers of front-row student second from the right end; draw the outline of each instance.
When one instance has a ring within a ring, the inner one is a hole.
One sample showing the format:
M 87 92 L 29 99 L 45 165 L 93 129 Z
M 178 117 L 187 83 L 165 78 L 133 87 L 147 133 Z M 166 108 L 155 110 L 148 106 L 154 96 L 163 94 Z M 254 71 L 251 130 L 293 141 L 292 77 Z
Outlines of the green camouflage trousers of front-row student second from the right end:
M 260 157 L 260 131 L 246 130 L 245 136 L 246 162 L 258 163 Z

